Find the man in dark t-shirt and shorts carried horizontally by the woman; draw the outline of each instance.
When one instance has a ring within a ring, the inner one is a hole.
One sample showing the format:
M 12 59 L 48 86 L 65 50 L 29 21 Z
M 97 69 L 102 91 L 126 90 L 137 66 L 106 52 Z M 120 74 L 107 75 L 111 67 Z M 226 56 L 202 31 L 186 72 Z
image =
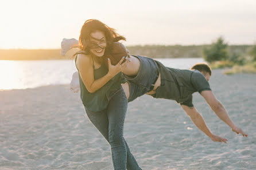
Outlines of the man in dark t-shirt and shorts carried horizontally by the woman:
M 65 54 L 78 41 L 63 39 L 61 54 Z M 222 103 L 214 96 L 208 81 L 211 77 L 211 68 L 207 64 L 196 64 L 191 70 L 180 70 L 165 67 L 159 61 L 142 56 L 130 56 L 129 67 L 122 70 L 127 82 L 123 84 L 127 100 L 133 101 L 143 94 L 154 98 L 166 98 L 177 101 L 188 114 L 193 123 L 212 141 L 227 143 L 227 139 L 211 133 L 203 117 L 192 103 L 192 93 L 199 92 L 215 114 L 224 121 L 232 131 L 247 137 L 247 134 L 238 128 L 230 119 Z M 79 91 L 78 73 L 75 72 L 71 81 L 71 90 Z

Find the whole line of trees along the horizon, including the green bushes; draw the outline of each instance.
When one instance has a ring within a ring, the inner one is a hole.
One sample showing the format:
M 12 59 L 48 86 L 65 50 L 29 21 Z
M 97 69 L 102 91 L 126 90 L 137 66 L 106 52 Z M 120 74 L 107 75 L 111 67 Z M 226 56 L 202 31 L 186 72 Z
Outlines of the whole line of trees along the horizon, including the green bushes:
M 204 57 L 208 62 L 227 59 L 240 62 L 245 57 L 243 54 L 256 53 L 255 45 L 227 45 L 222 37 L 211 45 L 135 45 L 126 48 L 130 54 L 151 58 Z M 69 50 L 63 57 L 60 49 L 0 49 L 0 60 L 69 60 L 76 51 Z

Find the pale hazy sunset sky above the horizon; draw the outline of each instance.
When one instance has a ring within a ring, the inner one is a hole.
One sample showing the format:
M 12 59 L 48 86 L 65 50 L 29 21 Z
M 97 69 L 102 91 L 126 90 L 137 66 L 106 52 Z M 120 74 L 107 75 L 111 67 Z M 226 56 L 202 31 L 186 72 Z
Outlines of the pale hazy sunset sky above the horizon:
M 255 44 L 256 1 L 23 0 L 1 1 L 0 49 L 59 49 L 79 38 L 87 19 L 99 19 L 125 45 Z

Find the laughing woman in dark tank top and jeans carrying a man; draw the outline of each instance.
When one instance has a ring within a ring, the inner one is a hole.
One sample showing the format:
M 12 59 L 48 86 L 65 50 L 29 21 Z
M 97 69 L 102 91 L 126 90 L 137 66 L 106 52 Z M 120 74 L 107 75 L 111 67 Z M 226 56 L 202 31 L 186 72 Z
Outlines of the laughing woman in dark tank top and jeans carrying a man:
M 104 23 L 89 19 L 82 26 L 79 47 L 74 54 L 79 72 L 80 97 L 87 116 L 111 146 L 114 169 L 141 169 L 123 138 L 127 98 L 121 84 L 126 79 L 121 72 L 127 62 L 104 64 L 111 43 L 125 40 Z

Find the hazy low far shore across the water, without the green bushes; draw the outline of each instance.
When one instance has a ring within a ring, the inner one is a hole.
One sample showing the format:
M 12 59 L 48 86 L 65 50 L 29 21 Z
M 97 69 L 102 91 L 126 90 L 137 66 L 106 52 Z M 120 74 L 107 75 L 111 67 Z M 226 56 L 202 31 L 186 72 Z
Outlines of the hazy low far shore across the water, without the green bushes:
M 210 45 L 135 45 L 126 46 L 130 54 L 152 58 L 201 58 L 204 47 Z M 230 52 L 245 53 L 252 45 L 230 45 Z M 71 60 L 78 49 L 61 56 L 60 49 L 0 49 L 0 60 Z

